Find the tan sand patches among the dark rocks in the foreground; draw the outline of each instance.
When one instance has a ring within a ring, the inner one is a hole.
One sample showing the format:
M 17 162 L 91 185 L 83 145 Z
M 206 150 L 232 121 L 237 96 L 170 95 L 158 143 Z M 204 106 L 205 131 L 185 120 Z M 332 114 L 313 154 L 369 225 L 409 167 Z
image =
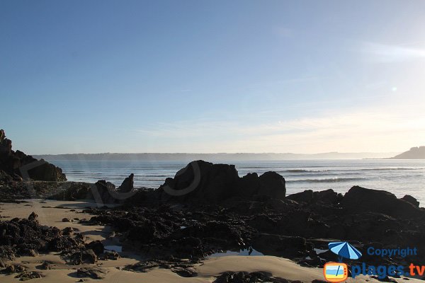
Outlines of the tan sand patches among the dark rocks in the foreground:
M 117 244 L 107 240 L 107 236 L 111 229 L 107 226 L 84 226 L 74 222 L 62 222 L 63 218 L 68 219 L 89 219 L 90 214 L 81 212 L 85 207 L 96 206 L 94 203 L 88 202 L 61 202 L 30 200 L 20 204 L 0 203 L 0 215 L 2 220 L 12 219 L 14 217 L 26 218 L 31 212 L 38 214 L 40 224 L 57 226 L 60 229 L 72 227 L 80 233 L 84 233 L 91 241 L 100 240 L 106 245 Z M 71 211 L 74 209 L 74 211 Z M 314 279 L 323 280 L 323 270 L 320 268 L 301 267 L 295 262 L 284 258 L 276 258 L 273 256 L 226 256 L 222 258 L 211 258 L 205 260 L 195 267 L 198 272 L 197 277 L 186 278 L 176 275 L 170 270 L 154 269 L 146 273 L 130 272 L 120 270 L 121 267 L 134 264 L 140 260 L 140 257 L 131 253 L 126 253 L 128 258 L 120 258 L 119 260 L 100 260 L 96 265 L 108 270 L 104 279 L 84 279 L 95 280 L 101 282 L 147 282 L 147 283 L 183 283 L 183 282 L 214 282 L 216 277 L 227 271 L 246 271 L 271 272 L 275 277 L 282 277 L 290 280 L 300 280 L 302 282 L 312 282 Z M 51 262 L 52 270 L 38 270 L 37 266 L 43 261 Z M 45 275 L 41 279 L 31 279 L 30 282 L 77 282 L 77 268 L 89 267 L 95 265 L 67 265 L 59 255 L 52 253 L 49 255 L 39 255 L 36 257 L 17 258 L 14 263 L 24 265 L 28 270 L 37 270 Z M 406 282 L 404 279 L 398 279 L 399 282 Z M 0 275 L 0 282 L 18 282 L 15 275 Z M 346 282 L 379 282 L 370 277 L 356 277 L 356 279 L 348 279 Z M 409 279 L 409 282 L 422 282 L 417 279 Z

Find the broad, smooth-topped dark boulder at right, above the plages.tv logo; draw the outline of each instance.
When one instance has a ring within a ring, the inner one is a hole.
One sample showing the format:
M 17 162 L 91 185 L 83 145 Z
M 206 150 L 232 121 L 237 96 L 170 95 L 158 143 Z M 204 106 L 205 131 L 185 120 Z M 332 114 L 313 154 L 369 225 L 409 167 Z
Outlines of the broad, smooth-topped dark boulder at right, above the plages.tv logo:
M 399 200 L 391 192 L 351 187 L 344 195 L 342 207 L 348 213 L 377 212 L 397 218 L 414 218 L 425 213 L 414 204 Z

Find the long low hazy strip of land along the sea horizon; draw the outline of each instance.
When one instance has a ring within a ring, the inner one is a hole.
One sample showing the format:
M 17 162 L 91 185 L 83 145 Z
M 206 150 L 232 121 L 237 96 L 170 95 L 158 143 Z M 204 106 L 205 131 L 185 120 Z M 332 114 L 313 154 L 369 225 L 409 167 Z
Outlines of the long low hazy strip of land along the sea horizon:
M 255 160 L 302 160 L 302 159 L 363 159 L 390 158 L 396 153 L 340 153 L 327 152 L 322 154 L 57 154 L 34 155 L 35 158 L 52 160 L 147 160 L 147 161 L 255 161 Z

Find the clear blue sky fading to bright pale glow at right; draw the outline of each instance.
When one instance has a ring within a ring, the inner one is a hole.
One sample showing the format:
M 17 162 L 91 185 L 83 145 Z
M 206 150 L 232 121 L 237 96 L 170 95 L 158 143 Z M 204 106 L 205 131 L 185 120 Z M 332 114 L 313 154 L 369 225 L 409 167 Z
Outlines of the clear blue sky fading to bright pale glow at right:
M 0 1 L 27 154 L 425 145 L 425 1 Z

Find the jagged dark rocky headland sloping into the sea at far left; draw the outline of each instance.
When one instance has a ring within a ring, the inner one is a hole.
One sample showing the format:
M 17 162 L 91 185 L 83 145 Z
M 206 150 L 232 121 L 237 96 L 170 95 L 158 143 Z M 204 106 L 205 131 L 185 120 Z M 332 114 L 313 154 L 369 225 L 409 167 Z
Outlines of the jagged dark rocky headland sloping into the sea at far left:
M 38 161 L 22 151 L 13 151 L 12 141 L 6 139 L 3 129 L 0 130 L 0 170 L 15 180 L 18 176 L 42 181 L 67 180 L 61 168 L 42 159 Z

